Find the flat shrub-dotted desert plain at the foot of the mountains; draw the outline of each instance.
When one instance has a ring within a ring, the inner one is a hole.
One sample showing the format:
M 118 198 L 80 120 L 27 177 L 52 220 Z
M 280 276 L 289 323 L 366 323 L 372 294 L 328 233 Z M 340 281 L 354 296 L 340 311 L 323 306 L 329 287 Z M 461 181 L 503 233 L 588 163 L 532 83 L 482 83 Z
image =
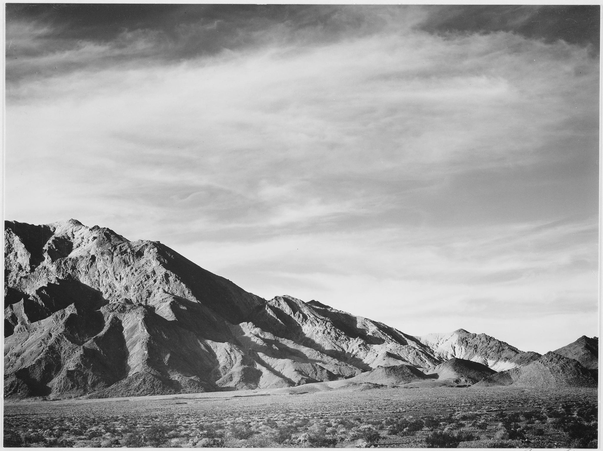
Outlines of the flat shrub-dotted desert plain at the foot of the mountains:
M 316 386 L 5 402 L 4 446 L 596 447 L 592 388 Z

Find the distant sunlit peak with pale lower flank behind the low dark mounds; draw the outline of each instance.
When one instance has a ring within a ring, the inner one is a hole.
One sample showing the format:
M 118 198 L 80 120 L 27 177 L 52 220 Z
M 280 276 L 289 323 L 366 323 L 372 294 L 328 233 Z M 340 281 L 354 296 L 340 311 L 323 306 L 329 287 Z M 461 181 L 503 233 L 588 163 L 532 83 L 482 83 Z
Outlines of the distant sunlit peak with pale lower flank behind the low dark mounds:
M 522 367 L 538 358 L 535 352 L 522 352 L 504 341 L 485 335 L 458 329 L 449 333 L 430 333 L 416 337 L 427 345 L 435 358 L 448 360 L 459 358 L 478 362 L 495 371 Z

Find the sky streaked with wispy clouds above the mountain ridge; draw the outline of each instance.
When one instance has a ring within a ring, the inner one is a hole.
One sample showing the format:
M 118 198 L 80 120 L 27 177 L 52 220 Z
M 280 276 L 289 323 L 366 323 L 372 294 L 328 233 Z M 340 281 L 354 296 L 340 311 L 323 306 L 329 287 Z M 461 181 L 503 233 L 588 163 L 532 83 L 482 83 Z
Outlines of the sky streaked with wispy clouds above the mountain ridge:
M 7 4 L 5 31 L 5 219 L 411 335 L 598 335 L 598 5 Z

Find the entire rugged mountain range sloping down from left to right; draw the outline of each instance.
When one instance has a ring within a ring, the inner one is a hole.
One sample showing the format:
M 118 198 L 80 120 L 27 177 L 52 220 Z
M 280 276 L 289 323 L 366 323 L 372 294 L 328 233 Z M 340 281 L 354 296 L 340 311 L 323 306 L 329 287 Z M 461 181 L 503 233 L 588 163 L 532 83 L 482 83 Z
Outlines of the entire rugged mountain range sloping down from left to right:
M 4 262 L 5 396 L 340 380 L 596 386 L 596 337 L 542 356 L 463 329 L 411 336 L 315 300 L 265 300 L 158 241 L 128 241 L 75 219 L 6 221 Z

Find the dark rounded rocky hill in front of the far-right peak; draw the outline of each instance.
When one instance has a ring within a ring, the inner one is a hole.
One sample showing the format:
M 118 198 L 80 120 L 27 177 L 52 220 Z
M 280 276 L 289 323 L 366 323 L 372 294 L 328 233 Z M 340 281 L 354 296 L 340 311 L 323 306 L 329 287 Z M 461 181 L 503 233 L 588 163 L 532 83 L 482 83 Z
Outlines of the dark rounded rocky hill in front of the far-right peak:
M 543 387 L 595 387 L 597 386 L 597 374 L 596 370 L 584 368 L 574 359 L 548 352 L 525 367 L 512 368 L 485 377 L 475 386 L 511 384 Z

